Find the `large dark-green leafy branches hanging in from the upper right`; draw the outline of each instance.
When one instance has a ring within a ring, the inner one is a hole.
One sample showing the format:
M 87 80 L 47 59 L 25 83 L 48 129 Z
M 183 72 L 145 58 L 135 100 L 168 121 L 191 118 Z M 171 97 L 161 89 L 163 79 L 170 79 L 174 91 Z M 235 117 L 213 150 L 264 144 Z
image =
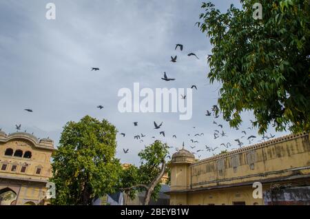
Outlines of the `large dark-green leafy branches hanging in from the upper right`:
M 254 19 L 254 3 L 262 19 Z M 310 131 L 309 0 L 242 0 L 225 13 L 212 3 L 197 22 L 213 45 L 208 56 L 211 83 L 222 83 L 218 105 L 231 127 L 252 110 L 259 133 Z M 218 113 L 218 112 L 217 112 Z

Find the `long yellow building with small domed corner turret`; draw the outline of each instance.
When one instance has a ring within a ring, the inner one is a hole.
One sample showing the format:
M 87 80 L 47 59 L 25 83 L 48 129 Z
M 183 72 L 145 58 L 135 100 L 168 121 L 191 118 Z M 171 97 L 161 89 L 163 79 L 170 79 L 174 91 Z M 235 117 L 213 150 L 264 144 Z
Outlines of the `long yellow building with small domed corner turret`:
M 170 205 L 310 205 L 309 137 L 291 134 L 198 161 L 183 147 L 169 165 Z

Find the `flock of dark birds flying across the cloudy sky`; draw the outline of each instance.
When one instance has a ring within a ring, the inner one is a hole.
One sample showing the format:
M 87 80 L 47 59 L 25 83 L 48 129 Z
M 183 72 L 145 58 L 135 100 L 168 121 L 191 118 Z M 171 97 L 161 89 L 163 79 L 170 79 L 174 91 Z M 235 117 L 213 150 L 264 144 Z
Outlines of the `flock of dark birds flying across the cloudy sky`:
M 183 51 L 183 45 L 182 44 L 176 44 L 175 50 L 177 50 L 178 48 L 180 49 L 180 51 Z M 187 56 L 195 56 L 196 59 L 199 59 L 198 56 L 196 56 L 196 54 L 194 54 L 193 52 L 190 52 L 189 54 L 187 54 Z M 176 63 L 177 58 L 178 58 L 178 56 L 171 56 L 171 62 L 172 63 Z M 100 70 L 99 67 L 92 67 L 92 69 L 91 69 L 91 71 L 99 71 L 99 70 Z M 176 80 L 176 79 L 169 78 L 167 76 L 166 72 L 164 72 L 164 76 L 161 79 L 163 81 L 175 81 Z M 192 85 L 191 88 L 197 90 L 197 86 L 196 85 Z M 181 97 L 181 99 L 184 100 L 186 98 L 186 95 L 181 95 L 180 97 Z M 99 110 L 103 110 L 104 107 L 103 107 L 103 105 L 98 105 L 97 108 Z M 32 109 L 25 109 L 25 111 L 33 112 Z M 216 119 L 216 118 L 219 117 L 217 112 L 219 112 L 218 106 L 217 105 L 213 105 L 210 110 L 207 110 L 205 112 L 205 116 L 208 116 L 208 117 L 209 116 L 213 116 L 214 119 Z M 251 123 L 253 123 L 253 121 L 251 121 Z M 244 142 L 242 142 L 242 138 L 244 138 L 244 140 L 245 139 L 249 140 L 249 144 L 251 144 L 253 142 L 253 140 L 256 138 L 256 136 L 254 136 L 254 135 L 247 135 L 247 132 L 245 130 L 242 130 L 240 132 L 242 134 L 240 136 L 240 138 L 234 139 L 234 141 L 236 143 L 234 143 L 234 142 L 233 143 L 225 142 L 225 138 L 227 137 L 227 133 L 224 132 L 223 125 L 218 123 L 218 122 L 216 122 L 215 120 L 211 124 L 216 127 L 216 129 L 214 129 L 214 133 L 213 133 L 214 139 L 220 138 L 220 139 L 223 140 L 223 142 L 220 143 L 219 145 L 213 145 L 213 146 L 203 144 L 203 145 L 205 145 L 205 147 L 203 149 L 197 148 L 198 147 L 197 144 L 199 143 L 199 141 L 197 139 L 194 139 L 194 138 L 200 138 L 202 136 L 205 136 L 205 134 L 203 132 L 193 134 L 194 137 L 189 139 L 190 144 L 192 144 L 189 147 L 192 149 L 192 154 L 196 154 L 198 156 L 198 158 L 200 158 L 200 156 L 202 155 L 201 154 L 202 152 L 211 152 L 213 155 L 216 155 L 216 153 L 214 153 L 216 151 L 216 149 L 221 149 L 222 151 L 223 150 L 227 151 L 228 149 L 238 149 L 240 147 L 243 147 Z M 134 127 L 137 127 L 138 126 L 138 121 L 133 122 L 133 125 L 134 125 Z M 156 129 L 156 130 L 162 129 L 162 126 L 163 126 L 163 122 L 156 123 L 154 121 L 154 129 Z M 196 127 L 193 127 L 193 128 L 196 129 Z M 16 125 L 16 129 L 17 129 L 17 132 L 19 130 L 21 130 L 21 124 Z M 247 129 L 251 130 L 253 128 L 252 127 L 248 127 Z M 236 130 L 238 130 L 238 128 Z M 25 132 L 26 132 L 26 130 L 25 130 Z M 159 133 L 159 136 L 166 137 L 166 134 L 165 134 L 164 130 L 158 130 L 158 133 Z M 120 133 L 120 135 L 123 136 L 123 138 L 125 138 L 125 136 L 127 136 L 123 132 Z M 191 134 L 187 134 L 187 136 L 191 136 Z M 141 134 L 135 134 L 133 137 L 134 137 L 134 140 L 138 140 L 139 143 L 143 143 L 144 142 L 143 138 L 146 137 L 146 134 L 142 134 L 142 133 Z M 263 140 L 268 140 L 269 138 L 273 138 L 273 137 L 274 137 L 274 135 L 272 135 L 272 134 L 270 134 L 269 136 L 262 136 L 262 140 L 259 140 L 259 142 L 263 141 Z M 156 136 L 152 136 L 152 138 L 156 138 Z M 173 134 L 172 138 L 176 138 L 176 134 Z M 238 147 L 234 147 L 234 145 L 238 146 Z M 169 147 L 169 149 L 172 149 L 172 148 L 173 147 Z M 175 150 L 178 151 L 179 148 L 175 147 Z M 125 154 L 127 154 L 127 153 L 130 152 L 130 149 L 129 148 L 127 148 L 127 149 L 123 148 L 123 152 Z M 171 158 L 171 156 L 168 154 L 167 158 Z

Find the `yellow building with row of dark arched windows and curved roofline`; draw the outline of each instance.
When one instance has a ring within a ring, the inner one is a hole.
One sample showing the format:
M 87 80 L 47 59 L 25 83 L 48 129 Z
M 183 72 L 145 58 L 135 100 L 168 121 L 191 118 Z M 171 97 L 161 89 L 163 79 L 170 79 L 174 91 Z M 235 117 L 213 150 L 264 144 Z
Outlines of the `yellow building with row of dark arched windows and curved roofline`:
M 0 131 L 0 205 L 46 205 L 52 176 L 50 139 Z

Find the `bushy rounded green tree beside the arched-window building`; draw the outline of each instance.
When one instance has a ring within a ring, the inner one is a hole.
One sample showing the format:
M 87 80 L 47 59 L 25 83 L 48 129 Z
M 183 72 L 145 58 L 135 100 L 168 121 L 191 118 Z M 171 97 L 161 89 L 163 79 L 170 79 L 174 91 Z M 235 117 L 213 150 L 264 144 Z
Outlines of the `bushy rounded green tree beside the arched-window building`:
M 106 120 L 85 116 L 63 128 L 53 155 L 54 205 L 91 205 L 119 185 L 121 164 L 116 153 L 116 128 Z

